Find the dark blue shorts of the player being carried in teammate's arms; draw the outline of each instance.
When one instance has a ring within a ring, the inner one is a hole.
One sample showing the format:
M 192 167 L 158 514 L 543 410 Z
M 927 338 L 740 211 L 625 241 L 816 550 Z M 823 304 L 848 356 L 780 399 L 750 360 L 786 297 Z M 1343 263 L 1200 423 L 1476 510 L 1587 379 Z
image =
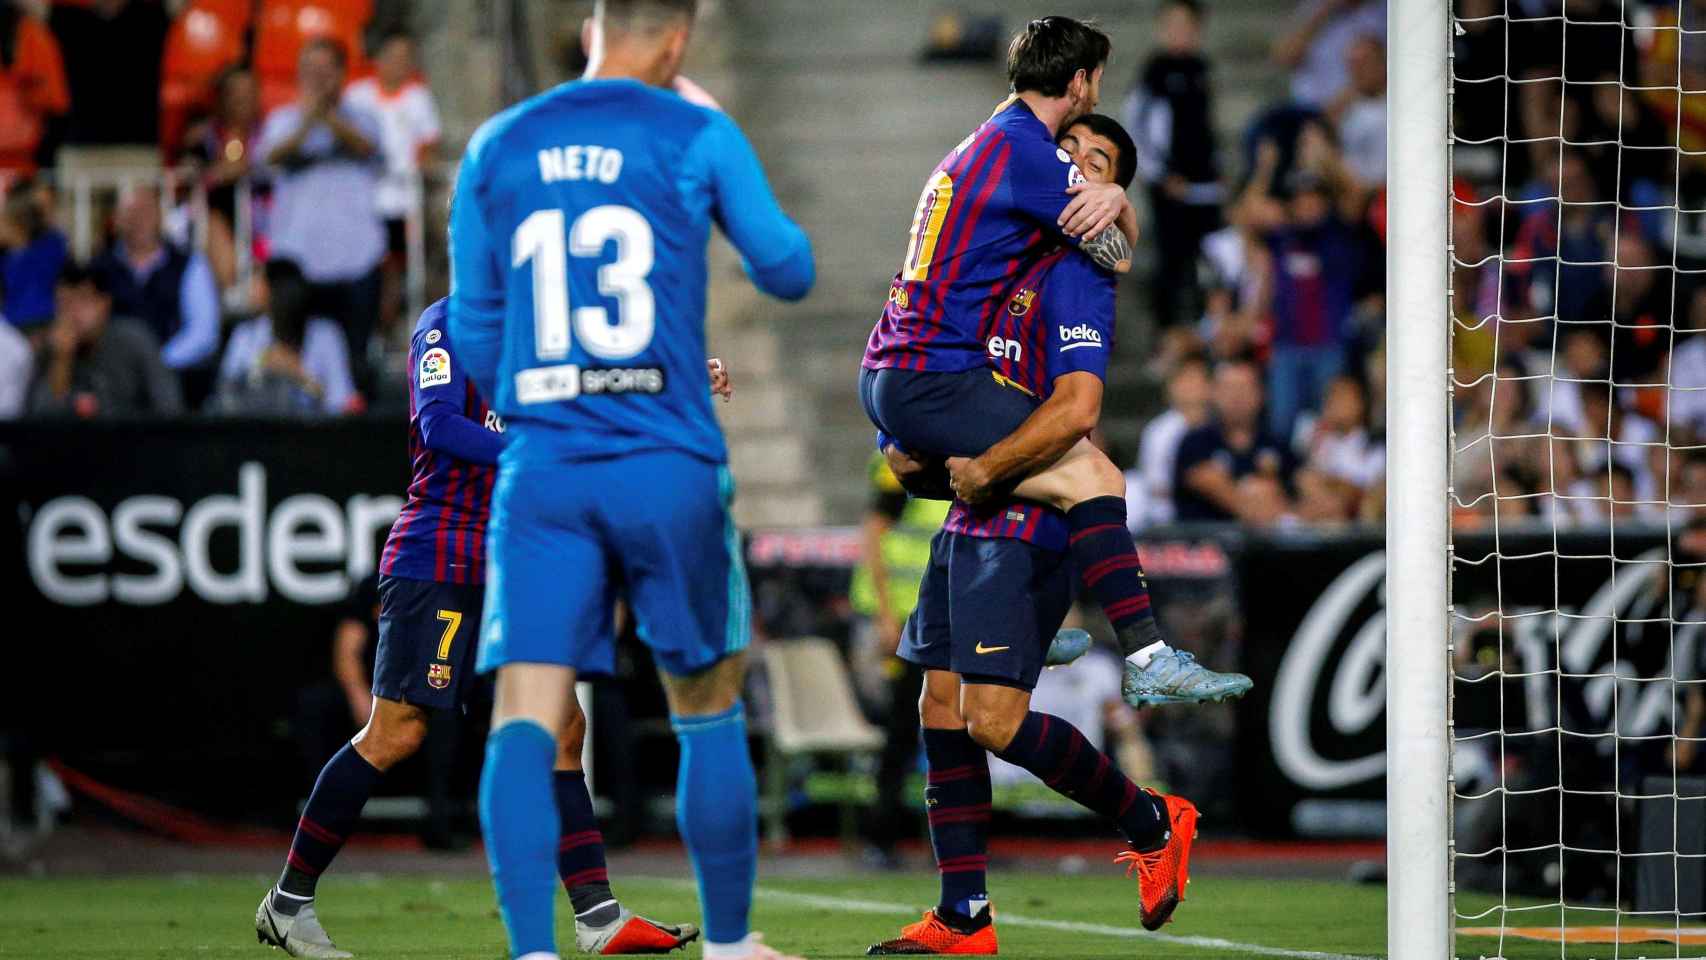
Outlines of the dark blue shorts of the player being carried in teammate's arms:
M 995 379 L 988 367 L 962 373 L 860 370 L 865 416 L 914 455 L 976 457 L 1037 409 L 1039 399 Z

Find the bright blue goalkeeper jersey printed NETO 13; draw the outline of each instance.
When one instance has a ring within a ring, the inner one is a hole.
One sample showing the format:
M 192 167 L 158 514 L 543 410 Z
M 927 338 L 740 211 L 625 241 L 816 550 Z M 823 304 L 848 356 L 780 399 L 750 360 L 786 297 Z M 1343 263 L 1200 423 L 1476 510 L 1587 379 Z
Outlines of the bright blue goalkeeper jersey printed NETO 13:
M 759 290 L 810 292 L 810 240 L 718 111 L 577 80 L 474 133 L 450 211 L 450 338 L 514 455 L 727 460 L 705 368 L 713 220 Z

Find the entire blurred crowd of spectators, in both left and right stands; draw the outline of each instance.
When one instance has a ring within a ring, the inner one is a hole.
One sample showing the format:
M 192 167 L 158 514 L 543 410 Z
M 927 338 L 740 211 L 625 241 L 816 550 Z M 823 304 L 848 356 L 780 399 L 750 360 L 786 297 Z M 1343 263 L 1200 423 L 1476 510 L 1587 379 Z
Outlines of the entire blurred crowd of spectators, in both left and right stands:
M 1568 27 L 1549 9 L 1457 9 L 1465 527 L 1706 503 L 1706 455 L 1665 447 L 1706 437 L 1706 338 L 1687 336 L 1706 327 L 1687 153 L 1706 53 L 1675 29 L 1706 5 L 1593 0 Z M 399 0 L 0 0 L 0 416 L 394 399 L 406 222 L 438 160 L 409 19 Z M 1380 520 L 1385 5 L 1302 0 L 1285 24 L 1286 95 L 1237 143 L 1216 136 L 1198 0 L 1160 5 L 1123 109 L 1165 387 L 1133 530 Z M 1508 102 L 1476 95 L 1506 75 Z M 67 184 L 111 167 L 142 176 L 80 259 Z

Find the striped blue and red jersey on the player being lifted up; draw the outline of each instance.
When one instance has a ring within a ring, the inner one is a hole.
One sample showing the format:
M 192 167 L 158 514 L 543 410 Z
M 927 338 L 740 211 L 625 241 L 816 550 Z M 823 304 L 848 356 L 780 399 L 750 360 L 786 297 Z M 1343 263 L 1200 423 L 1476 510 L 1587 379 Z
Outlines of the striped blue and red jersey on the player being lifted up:
M 1063 244 L 1056 218 L 1078 182 L 1083 174 L 1024 101 L 996 109 L 925 182 L 863 367 L 981 367 L 979 333 L 1012 278 Z

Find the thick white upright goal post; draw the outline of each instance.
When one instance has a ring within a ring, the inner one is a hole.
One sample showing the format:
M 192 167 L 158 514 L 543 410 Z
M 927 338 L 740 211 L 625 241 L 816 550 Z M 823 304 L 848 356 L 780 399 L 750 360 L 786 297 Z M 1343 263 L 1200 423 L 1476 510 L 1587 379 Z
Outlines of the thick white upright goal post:
M 1387 957 L 1452 955 L 1448 0 L 1387 5 Z

